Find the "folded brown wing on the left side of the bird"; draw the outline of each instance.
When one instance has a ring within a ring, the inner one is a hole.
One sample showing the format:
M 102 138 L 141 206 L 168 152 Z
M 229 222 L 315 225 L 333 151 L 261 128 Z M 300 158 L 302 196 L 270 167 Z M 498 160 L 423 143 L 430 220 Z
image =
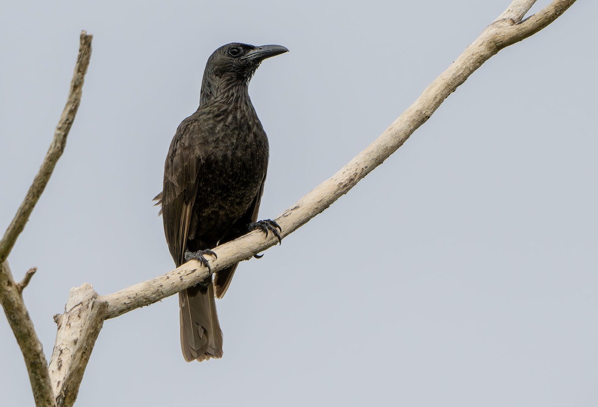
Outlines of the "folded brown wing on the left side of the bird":
M 160 196 L 166 242 L 176 266 L 185 262 L 185 247 L 193 233 L 193 205 L 197 196 L 197 174 L 202 161 L 197 140 L 202 129 L 185 119 L 176 130 L 164 165 L 164 186 Z

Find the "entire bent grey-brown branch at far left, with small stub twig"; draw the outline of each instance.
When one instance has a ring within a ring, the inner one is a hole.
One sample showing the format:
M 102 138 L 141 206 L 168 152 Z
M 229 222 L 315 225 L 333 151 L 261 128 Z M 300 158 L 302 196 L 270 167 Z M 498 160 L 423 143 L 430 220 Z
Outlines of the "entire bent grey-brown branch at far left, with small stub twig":
M 13 221 L 4 233 L 0 241 L 0 303 L 4 308 L 4 313 L 8 319 L 17 343 L 25 358 L 25 365 L 29 373 L 29 381 L 33 391 L 33 398 L 36 406 L 56 406 L 56 397 L 50 382 L 50 375 L 48 373 L 48 363 L 45 359 L 44 350 L 41 342 L 33 327 L 33 322 L 29 317 L 29 313 L 23 301 L 23 288 L 29 283 L 31 277 L 35 273 L 35 269 L 30 269 L 21 283 L 15 283 L 13 275 L 6 261 L 8 254 L 13 249 L 17 238 L 23 231 L 25 224 L 29 220 L 29 215 L 33 211 L 33 207 L 39 200 L 45 186 L 50 180 L 56 162 L 62 155 L 65 148 L 66 137 L 75 114 L 81 102 L 81 91 L 83 89 L 83 80 L 89 66 L 89 59 L 91 56 L 91 35 L 86 32 L 81 32 L 79 54 L 77 63 L 75 63 L 75 71 L 71 80 L 71 87 L 69 90 L 68 99 L 65 109 L 60 117 L 54 138 L 51 142 L 50 148 L 45 156 L 44 162 L 39 168 L 38 174 L 33 179 L 33 183 L 29 187 L 29 191 L 17 210 Z

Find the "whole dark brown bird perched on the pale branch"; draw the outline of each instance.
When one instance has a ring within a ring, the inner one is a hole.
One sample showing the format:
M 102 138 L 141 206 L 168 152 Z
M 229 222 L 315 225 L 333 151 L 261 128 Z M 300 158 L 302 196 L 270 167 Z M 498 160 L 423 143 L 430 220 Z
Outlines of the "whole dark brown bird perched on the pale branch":
M 250 230 L 282 229 L 257 221 L 269 159 L 266 132 L 249 98 L 260 63 L 288 52 L 282 45 L 232 42 L 216 49 L 203 72 L 199 108 L 176 129 L 164 163 L 161 205 L 164 234 L 175 265 L 196 259 L 210 275 L 179 292 L 181 350 L 187 362 L 222 357 L 215 297 L 226 293 L 238 263 L 212 273 L 211 250 Z M 256 256 L 258 257 L 258 256 Z

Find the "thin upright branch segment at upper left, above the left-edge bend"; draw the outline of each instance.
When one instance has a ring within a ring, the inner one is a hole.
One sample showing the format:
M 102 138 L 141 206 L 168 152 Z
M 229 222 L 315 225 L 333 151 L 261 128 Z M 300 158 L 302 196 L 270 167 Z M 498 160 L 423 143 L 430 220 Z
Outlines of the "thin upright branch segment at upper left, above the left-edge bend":
M 42 192 L 44 192 L 45 186 L 48 184 L 52 172 L 54 171 L 54 167 L 65 149 L 66 137 L 69 135 L 69 130 L 71 130 L 72 123 L 75 120 L 75 114 L 77 114 L 77 110 L 81 103 L 83 81 L 91 57 L 92 38 L 93 35 L 87 35 L 85 31 L 81 32 L 79 55 L 77 57 L 77 63 L 75 64 L 75 72 L 71 80 L 71 89 L 69 90 L 65 109 L 62 111 L 62 116 L 56 126 L 54 139 L 50 144 L 50 148 L 48 148 L 48 152 L 45 154 L 44 162 L 39 168 L 38 174 L 33 179 L 33 183 L 29 187 L 27 195 L 25 196 L 25 199 L 23 199 L 23 203 L 21 203 L 19 210 L 16 215 L 14 215 L 13 221 L 8 226 L 8 229 L 0 241 L 0 263 L 4 262 L 4 260 L 8 258 L 10 251 L 13 250 L 17 238 L 21 232 L 23 232 L 35 204 L 38 202 Z

